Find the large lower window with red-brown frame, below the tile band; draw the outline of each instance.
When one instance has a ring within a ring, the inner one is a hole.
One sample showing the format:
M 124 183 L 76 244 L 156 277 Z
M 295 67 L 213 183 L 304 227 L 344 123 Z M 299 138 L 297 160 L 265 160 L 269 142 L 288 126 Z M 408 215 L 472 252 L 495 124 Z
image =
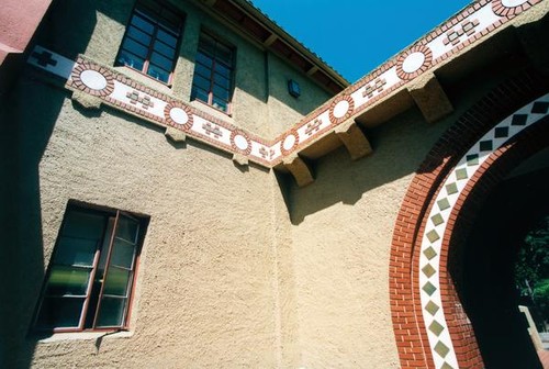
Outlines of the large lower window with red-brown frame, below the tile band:
M 124 328 L 147 219 L 69 202 L 35 320 L 38 331 Z

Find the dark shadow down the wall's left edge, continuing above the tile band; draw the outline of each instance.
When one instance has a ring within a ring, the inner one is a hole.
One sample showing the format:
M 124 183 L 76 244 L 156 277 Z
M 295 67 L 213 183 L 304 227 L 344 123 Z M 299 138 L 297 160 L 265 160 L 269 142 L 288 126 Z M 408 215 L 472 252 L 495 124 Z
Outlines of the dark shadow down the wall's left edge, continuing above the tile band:
M 96 25 L 96 7 L 94 1 L 54 1 L 29 49 L 40 43 L 63 46 L 70 56 L 83 52 Z M 81 21 L 75 22 L 74 14 Z M 22 76 L 13 78 L 0 104 L 0 368 L 31 367 L 36 346 L 29 332 L 45 271 L 40 163 L 67 98 L 63 89 L 35 77 L 40 71 L 24 65 L 27 57 L 19 58 L 14 70 Z

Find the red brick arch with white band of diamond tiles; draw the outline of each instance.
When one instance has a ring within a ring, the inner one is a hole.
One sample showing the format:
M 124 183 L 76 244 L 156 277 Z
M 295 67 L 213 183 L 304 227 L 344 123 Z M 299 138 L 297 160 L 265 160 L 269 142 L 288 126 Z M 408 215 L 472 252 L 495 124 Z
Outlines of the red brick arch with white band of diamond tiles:
M 446 267 L 448 250 L 456 220 L 463 216 L 460 211 L 471 191 L 479 194 L 481 187 L 489 191 L 517 163 L 547 146 L 547 132 L 531 133 L 547 130 L 547 123 L 518 125 L 523 115 L 534 116 L 545 105 L 533 101 L 525 108 L 527 114 L 517 112 L 547 91 L 542 80 L 524 72 L 479 101 L 442 135 L 408 187 L 395 222 L 389 276 L 393 329 L 403 369 L 483 366 L 472 326 Z M 536 123 L 542 115 L 534 116 Z M 514 132 L 517 128 L 519 133 Z M 500 137 L 488 139 L 486 134 Z M 497 146 L 492 147 L 494 144 Z M 445 199 L 450 195 L 455 195 L 452 206 L 447 206 Z M 445 211 L 446 220 L 440 215 Z M 437 230 L 437 224 L 445 231 Z M 430 247 L 435 244 L 438 247 Z

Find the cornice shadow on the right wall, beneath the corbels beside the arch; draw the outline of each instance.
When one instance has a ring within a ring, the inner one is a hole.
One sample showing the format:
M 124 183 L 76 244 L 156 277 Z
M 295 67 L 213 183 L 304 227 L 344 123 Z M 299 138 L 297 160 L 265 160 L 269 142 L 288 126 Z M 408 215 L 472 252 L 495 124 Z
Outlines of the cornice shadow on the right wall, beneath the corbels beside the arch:
M 414 174 L 453 120 L 427 124 L 414 108 L 369 130 L 367 136 L 373 148 L 370 157 L 351 161 L 345 147 L 340 147 L 313 164 L 315 181 L 305 188 L 298 188 L 289 176 L 279 176 L 292 224 L 338 202 L 355 204 L 363 193 Z

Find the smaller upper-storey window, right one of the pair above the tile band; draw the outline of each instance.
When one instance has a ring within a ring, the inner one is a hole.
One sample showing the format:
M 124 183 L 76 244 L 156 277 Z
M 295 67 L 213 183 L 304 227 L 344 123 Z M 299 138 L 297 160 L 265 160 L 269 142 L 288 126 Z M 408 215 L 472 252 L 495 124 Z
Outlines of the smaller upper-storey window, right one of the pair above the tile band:
M 191 99 L 229 112 L 233 90 L 234 49 L 202 33 L 194 64 Z

